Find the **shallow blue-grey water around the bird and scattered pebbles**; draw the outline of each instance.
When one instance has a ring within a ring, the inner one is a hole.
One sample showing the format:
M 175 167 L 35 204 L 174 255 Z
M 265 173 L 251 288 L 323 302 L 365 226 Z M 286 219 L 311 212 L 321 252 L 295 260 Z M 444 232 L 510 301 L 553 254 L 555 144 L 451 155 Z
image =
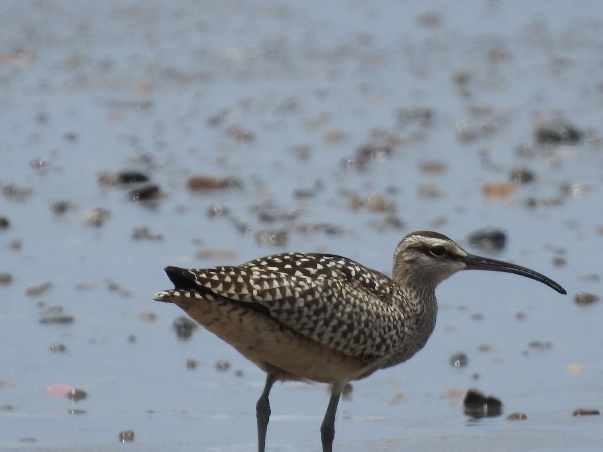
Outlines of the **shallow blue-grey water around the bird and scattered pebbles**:
M 438 230 L 484 254 L 467 237 L 495 226 L 508 240 L 494 257 L 545 273 L 569 295 L 514 275 L 444 281 L 428 344 L 353 383 L 335 447 L 601 450 L 601 416 L 572 417 L 603 407 L 603 307 L 573 301 L 601 295 L 601 8 L 451 5 L 3 2 L 0 216 L 10 225 L 0 230 L 0 272 L 12 281 L 0 286 L 0 449 L 254 450 L 264 374 L 201 329 L 176 337 L 183 313 L 151 301 L 169 287 L 164 266 L 299 250 L 390 272 L 409 231 Z M 431 113 L 423 121 L 400 113 L 421 108 Z M 583 138 L 538 144 L 535 130 L 558 118 Z M 355 159 L 365 145 L 387 152 Z M 421 169 L 431 161 L 443 171 Z M 536 180 L 484 194 L 517 167 Z M 127 169 L 164 196 L 133 202 L 131 187 L 99 185 L 99 173 Z M 193 174 L 241 187 L 193 193 Z M 7 186 L 31 193 L 20 200 Z M 391 202 L 385 212 L 371 195 Z M 67 212 L 51 212 L 57 201 Z M 210 218 L 215 204 L 229 215 Z M 110 214 L 100 227 L 82 219 L 96 208 Z M 134 240 L 136 227 L 162 239 Z M 286 231 L 285 243 L 261 245 L 262 231 Z M 50 306 L 74 322 L 40 324 Z M 66 351 L 51 351 L 54 342 Z M 457 351 L 466 368 L 450 366 Z M 215 369 L 219 360 L 230 369 Z M 49 395 L 52 383 L 88 397 Z M 467 388 L 499 397 L 503 415 L 464 416 Z M 277 385 L 268 450 L 317 450 L 327 400 L 324 385 Z M 528 419 L 505 420 L 512 412 Z M 119 444 L 124 430 L 131 444 Z

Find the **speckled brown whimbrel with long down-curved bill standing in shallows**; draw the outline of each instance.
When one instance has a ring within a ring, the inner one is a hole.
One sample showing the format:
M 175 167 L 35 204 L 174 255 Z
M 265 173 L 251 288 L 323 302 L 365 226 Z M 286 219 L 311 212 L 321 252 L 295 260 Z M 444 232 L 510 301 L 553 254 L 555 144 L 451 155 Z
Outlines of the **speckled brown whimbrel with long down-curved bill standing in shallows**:
M 333 254 L 282 253 L 236 266 L 167 267 L 175 289 L 155 300 L 176 304 L 267 372 L 256 405 L 259 452 L 275 381 L 330 383 L 320 427 L 329 452 L 344 385 L 420 350 L 435 327 L 435 287 L 465 269 L 514 273 L 566 293 L 534 270 L 469 254 L 437 232 L 416 231 L 397 246 L 392 278 Z

